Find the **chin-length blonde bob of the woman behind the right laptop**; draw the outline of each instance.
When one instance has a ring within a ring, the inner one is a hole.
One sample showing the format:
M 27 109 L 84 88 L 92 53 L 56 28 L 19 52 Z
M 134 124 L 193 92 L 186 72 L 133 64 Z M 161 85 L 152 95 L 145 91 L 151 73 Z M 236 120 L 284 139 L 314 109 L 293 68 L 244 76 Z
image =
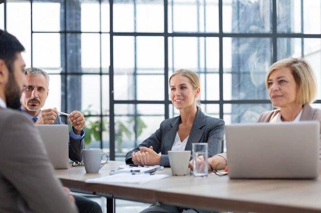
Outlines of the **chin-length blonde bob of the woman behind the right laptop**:
M 273 63 L 265 78 L 265 85 L 269 89 L 269 78 L 275 69 L 289 67 L 298 86 L 296 103 L 312 104 L 317 93 L 316 78 L 310 64 L 303 58 L 285 58 Z

